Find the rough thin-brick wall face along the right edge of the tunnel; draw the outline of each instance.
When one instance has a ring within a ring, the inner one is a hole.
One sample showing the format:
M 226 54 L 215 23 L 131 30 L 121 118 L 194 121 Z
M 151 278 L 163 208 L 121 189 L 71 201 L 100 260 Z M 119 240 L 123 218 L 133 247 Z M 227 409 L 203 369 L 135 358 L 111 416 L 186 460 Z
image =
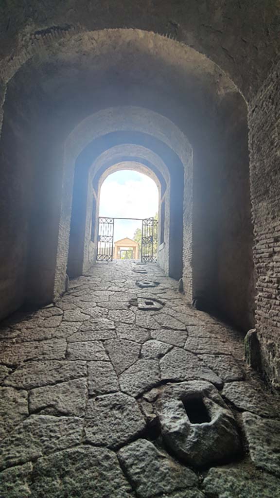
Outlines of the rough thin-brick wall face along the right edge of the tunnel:
M 280 62 L 250 103 L 256 327 L 263 367 L 280 387 Z

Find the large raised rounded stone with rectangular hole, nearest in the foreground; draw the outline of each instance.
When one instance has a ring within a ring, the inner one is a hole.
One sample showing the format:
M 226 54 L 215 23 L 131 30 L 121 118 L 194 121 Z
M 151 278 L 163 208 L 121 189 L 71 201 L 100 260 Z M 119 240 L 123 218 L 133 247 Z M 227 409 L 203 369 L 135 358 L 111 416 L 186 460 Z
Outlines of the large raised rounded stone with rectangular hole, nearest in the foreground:
M 222 462 L 241 450 L 233 414 L 208 382 L 167 385 L 156 400 L 156 411 L 166 444 L 189 465 Z

